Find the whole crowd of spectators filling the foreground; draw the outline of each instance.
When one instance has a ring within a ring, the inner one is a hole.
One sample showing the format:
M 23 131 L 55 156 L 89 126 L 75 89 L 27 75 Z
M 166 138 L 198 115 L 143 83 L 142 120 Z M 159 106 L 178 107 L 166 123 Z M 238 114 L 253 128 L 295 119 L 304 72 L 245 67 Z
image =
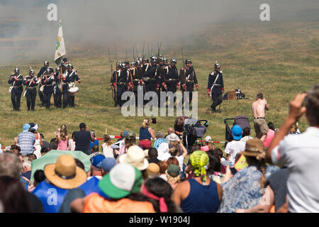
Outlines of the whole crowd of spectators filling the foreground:
M 53 213 L 319 212 L 319 84 L 290 102 L 279 129 L 265 121 L 265 110 L 257 94 L 256 136 L 235 124 L 224 150 L 206 136 L 189 151 L 184 116 L 167 135 L 145 118 L 139 140 L 123 131 L 117 141 L 103 135 L 101 145 L 85 123 L 72 134 L 60 126 L 50 142 L 37 124 L 25 123 L 0 151 L 0 206 Z M 303 114 L 309 127 L 301 133 Z

